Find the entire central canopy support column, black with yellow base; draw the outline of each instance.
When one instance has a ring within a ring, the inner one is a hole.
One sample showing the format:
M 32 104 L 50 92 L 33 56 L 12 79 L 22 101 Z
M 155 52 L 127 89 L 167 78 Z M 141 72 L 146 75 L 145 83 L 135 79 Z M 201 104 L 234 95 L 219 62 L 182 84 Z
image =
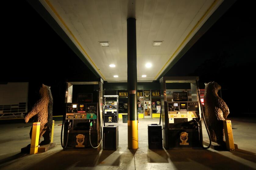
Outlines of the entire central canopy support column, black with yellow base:
M 138 148 L 136 19 L 127 19 L 128 148 Z

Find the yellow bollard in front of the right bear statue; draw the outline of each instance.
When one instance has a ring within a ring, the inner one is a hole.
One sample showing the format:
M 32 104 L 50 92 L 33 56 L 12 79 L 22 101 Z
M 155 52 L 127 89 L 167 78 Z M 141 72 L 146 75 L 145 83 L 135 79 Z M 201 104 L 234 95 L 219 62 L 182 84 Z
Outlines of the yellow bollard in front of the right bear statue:
M 226 147 L 229 151 L 235 150 L 234 139 L 233 139 L 233 132 L 230 120 L 223 121 L 224 125 L 224 132 L 225 132 L 225 139 L 226 139 Z

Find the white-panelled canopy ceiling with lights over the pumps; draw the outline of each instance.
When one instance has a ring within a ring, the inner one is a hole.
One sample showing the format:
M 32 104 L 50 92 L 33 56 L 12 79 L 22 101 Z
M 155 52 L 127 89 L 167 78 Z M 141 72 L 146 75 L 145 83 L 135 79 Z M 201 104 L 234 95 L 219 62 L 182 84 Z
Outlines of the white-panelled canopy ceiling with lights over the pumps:
M 127 18 L 136 18 L 137 79 L 158 80 L 184 54 L 182 50 L 188 50 L 194 44 L 194 42 L 189 43 L 190 40 L 199 39 L 215 22 L 210 21 L 208 27 L 198 34 L 198 30 L 223 1 L 39 0 L 39 2 L 79 50 L 81 55 L 78 56 L 81 60 L 98 74 L 98 77 L 106 81 L 126 81 Z M 43 12 L 38 12 L 43 15 Z M 54 28 L 49 19 L 46 20 Z M 57 29 L 55 31 L 59 33 Z M 61 33 L 59 35 L 61 36 Z

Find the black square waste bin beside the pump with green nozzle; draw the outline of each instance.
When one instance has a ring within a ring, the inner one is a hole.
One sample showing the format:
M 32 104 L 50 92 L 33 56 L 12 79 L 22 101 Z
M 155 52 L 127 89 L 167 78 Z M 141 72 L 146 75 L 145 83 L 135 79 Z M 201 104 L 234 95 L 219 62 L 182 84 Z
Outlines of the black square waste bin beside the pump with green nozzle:
M 116 151 L 116 149 L 118 148 L 118 126 L 104 126 L 102 142 L 103 150 Z

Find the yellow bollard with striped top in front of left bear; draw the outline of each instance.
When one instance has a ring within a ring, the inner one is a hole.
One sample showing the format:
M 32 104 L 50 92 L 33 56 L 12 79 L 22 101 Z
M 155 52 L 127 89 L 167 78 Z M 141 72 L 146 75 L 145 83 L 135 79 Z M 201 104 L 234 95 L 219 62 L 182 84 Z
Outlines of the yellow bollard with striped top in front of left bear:
M 40 122 L 34 122 L 32 127 L 30 154 L 36 154 L 38 151 L 39 132 L 40 132 Z

